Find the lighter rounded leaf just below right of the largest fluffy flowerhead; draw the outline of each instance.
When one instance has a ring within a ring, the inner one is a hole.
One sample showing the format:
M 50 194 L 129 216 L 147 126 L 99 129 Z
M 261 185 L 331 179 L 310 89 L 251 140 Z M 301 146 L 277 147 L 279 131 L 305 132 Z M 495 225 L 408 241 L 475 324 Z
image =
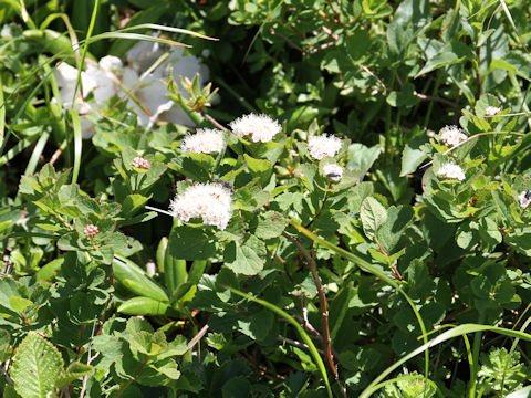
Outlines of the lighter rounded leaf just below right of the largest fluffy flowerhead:
M 231 241 L 223 252 L 225 265 L 237 274 L 256 275 L 266 263 L 266 244 L 254 235 L 249 235 L 243 243 Z

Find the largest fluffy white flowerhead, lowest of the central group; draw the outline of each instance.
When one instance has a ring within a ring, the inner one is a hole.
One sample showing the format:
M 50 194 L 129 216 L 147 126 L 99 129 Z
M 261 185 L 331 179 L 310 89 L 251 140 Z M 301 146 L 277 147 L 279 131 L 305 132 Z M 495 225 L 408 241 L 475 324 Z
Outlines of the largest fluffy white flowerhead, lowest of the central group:
M 225 230 L 230 220 L 230 191 L 218 184 L 198 184 L 177 195 L 169 211 L 184 222 L 202 218 L 204 223 Z

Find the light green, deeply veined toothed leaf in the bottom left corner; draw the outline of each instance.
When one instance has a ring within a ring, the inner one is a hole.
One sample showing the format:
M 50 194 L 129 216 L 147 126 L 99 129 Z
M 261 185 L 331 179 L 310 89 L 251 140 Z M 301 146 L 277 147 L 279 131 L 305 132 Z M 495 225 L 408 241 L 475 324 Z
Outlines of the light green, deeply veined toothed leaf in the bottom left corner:
M 14 389 L 24 398 L 45 398 L 53 391 L 63 366 L 58 348 L 30 332 L 17 348 L 10 369 Z

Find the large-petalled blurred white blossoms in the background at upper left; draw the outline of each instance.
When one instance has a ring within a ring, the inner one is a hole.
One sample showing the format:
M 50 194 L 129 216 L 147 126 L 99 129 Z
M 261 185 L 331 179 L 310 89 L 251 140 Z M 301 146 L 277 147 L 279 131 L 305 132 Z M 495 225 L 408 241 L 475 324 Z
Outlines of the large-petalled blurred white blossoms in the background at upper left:
M 83 94 L 77 91 L 75 98 L 77 70 L 63 62 L 54 72 L 60 86 L 61 102 L 65 108 L 71 108 L 74 104 L 74 108 L 85 115 L 97 113 L 106 100 L 118 95 L 127 101 L 128 107 L 137 114 L 142 125 L 149 127 L 157 121 L 166 121 L 192 126 L 194 123 L 188 115 L 168 100 L 167 88 L 162 80 L 166 80 L 173 69 L 176 82 L 179 81 L 179 75 L 191 80 L 199 73 L 199 83 L 202 86 L 209 76 L 208 69 L 197 57 L 185 54 L 183 48 L 171 48 L 169 56 L 157 67 L 150 69 L 164 53 L 165 50 L 158 43 L 144 41 L 137 43 L 126 54 L 126 66 L 116 56 L 105 56 L 98 63 L 88 60 L 86 71 L 81 73 Z M 188 97 L 188 93 L 180 87 L 180 84 L 178 86 L 183 96 Z M 93 93 L 94 103 L 86 103 L 84 98 L 91 93 Z M 138 103 L 147 109 L 147 114 Z M 82 127 L 83 138 L 94 135 L 93 124 L 84 117 Z

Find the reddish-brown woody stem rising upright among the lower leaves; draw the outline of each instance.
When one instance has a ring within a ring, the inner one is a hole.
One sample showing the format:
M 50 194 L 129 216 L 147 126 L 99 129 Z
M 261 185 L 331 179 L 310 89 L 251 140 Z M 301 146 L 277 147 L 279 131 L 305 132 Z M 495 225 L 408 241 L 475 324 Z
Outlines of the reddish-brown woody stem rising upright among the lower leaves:
M 310 254 L 310 252 L 306 249 L 304 249 L 304 247 L 298 239 L 292 238 L 287 233 L 283 233 L 283 235 L 290 242 L 292 242 L 299 249 L 302 255 L 306 259 L 308 268 L 310 269 L 315 286 L 317 287 L 319 306 L 321 311 L 321 327 L 322 327 L 322 335 L 323 335 L 323 350 L 324 350 L 326 360 L 329 363 L 329 367 L 332 370 L 332 374 L 334 375 L 335 379 L 337 380 L 339 379 L 337 368 L 335 367 L 335 364 L 334 364 L 334 358 L 332 356 L 332 345 L 330 344 L 331 338 L 330 338 L 329 310 L 326 304 L 326 295 L 324 293 L 323 284 L 321 283 L 321 279 L 319 277 L 319 274 L 317 274 L 317 265 L 315 263 L 315 260 Z

